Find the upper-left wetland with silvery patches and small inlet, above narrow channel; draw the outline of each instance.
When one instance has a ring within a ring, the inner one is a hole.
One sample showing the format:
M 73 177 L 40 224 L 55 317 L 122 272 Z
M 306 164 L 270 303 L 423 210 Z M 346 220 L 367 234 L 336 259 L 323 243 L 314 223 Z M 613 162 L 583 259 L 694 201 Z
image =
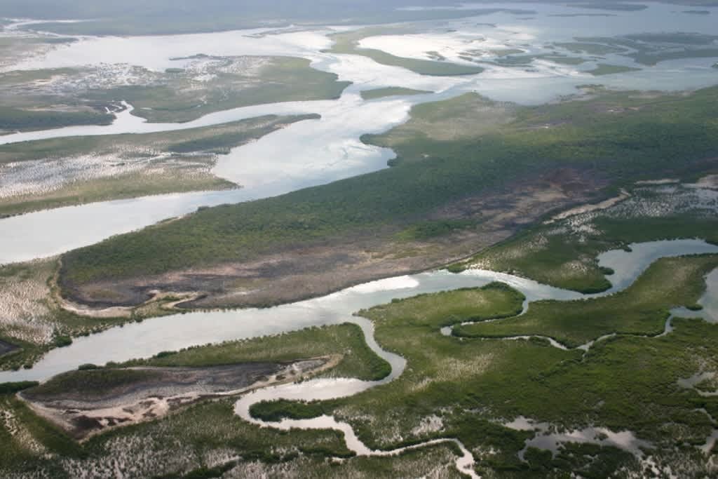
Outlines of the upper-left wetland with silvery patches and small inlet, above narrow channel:
M 350 85 L 304 58 L 200 52 L 176 60 L 182 68 L 164 71 L 97 65 L 4 73 L 0 131 L 111 124 L 121 101 L 147 121 L 182 123 L 242 106 L 339 98 Z

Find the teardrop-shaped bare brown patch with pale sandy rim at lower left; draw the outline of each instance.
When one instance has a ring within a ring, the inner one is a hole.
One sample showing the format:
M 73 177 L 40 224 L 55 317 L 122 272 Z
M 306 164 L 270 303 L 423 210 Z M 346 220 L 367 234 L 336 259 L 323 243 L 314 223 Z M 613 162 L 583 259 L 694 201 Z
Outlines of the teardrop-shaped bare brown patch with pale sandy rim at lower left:
M 62 427 L 77 440 L 117 427 L 164 417 L 197 401 L 235 396 L 286 383 L 336 366 L 339 356 L 294 363 L 240 363 L 208 368 L 129 368 L 74 371 L 69 375 L 136 373 L 129 381 L 95 389 L 92 378 L 57 387 L 50 383 L 30 389 L 22 399 L 40 416 Z M 60 376 L 60 381 L 62 381 Z

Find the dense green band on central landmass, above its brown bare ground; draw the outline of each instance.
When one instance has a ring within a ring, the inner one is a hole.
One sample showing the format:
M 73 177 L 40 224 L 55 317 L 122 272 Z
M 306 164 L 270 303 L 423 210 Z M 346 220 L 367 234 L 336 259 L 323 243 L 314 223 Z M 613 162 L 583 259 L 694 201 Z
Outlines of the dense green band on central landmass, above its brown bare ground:
M 471 135 L 469 124 L 451 141 L 429 136 L 443 120 L 424 118 L 441 111 L 451 121 L 451 108 L 443 108 L 442 102 L 424 104 L 415 108 L 408 127 L 425 125 L 426 133 L 404 134 L 399 127 L 396 137 L 389 132 L 366 139 L 396 149 L 398 160 L 391 169 L 210 208 L 110 238 L 65 255 L 62 282 L 67 286 L 244 261 L 367 228 L 409 228 L 447 203 L 561 167 L 590 170 L 614 183 L 646 171 L 656 176 L 692 172 L 718 152 L 718 124 L 713 121 L 717 97 L 718 88 L 658 98 L 604 93 L 591 101 L 518 108 L 510 124 L 477 136 Z M 476 111 L 478 118 L 484 111 Z

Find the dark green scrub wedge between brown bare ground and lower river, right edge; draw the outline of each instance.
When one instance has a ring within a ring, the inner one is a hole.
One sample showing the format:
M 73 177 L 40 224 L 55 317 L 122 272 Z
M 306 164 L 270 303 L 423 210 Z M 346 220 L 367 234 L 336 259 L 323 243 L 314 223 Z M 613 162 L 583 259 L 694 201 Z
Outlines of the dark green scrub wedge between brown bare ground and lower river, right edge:
M 628 243 L 701 238 L 718 243 L 718 193 L 691 185 L 634 187 L 605 210 L 537 225 L 449 267 L 505 271 L 583 293 L 610 288 L 597 256 Z

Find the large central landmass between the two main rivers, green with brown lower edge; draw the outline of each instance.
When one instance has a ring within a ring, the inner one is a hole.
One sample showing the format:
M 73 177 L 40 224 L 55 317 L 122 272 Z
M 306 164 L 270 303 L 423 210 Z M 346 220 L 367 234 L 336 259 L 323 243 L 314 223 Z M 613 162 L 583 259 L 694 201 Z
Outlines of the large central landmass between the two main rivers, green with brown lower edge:
M 390 169 L 267 200 L 210 208 L 110 238 L 66 254 L 60 281 L 65 292 L 78 299 L 93 300 L 85 285 L 101 284 L 119 292 L 124 302 L 134 303 L 138 299 L 128 292 L 133 278 L 149 278 L 143 284 L 149 289 L 153 282 L 167 284 L 163 275 L 170 271 L 216 271 L 224 264 L 239 265 L 229 274 L 237 284 L 249 281 L 258 286 L 245 291 L 271 291 L 267 278 L 252 276 L 241 265 L 261 265 L 276 251 L 295 263 L 302 258 L 292 251 L 319 255 L 313 291 L 302 287 L 307 276 L 301 266 L 275 270 L 276 277 L 299 280 L 292 289 L 266 294 L 276 301 L 276 294 L 288 300 L 327 291 L 321 284 L 322 271 L 337 267 L 326 259 L 327 251 L 345 246 L 368 252 L 370 269 L 340 285 L 332 282 L 332 289 L 376 278 L 382 265 L 392 264 L 394 273 L 439 266 L 452 256 L 468 256 L 471 248 L 475 252 L 488 246 L 480 238 L 491 243 L 508 238 L 521 225 L 556 208 L 607 197 L 635 180 L 709 170 L 718 152 L 714 122 L 709 119 L 717 92 L 604 91 L 587 100 L 531 108 L 474 94 L 425 103 L 414 108 L 407 124 L 365 136 L 370 144 L 396 151 Z M 632 161 L 621 160 L 625 157 Z M 516 191 L 524 192 L 521 201 L 513 195 Z M 711 224 L 696 222 L 706 231 Z M 369 230 L 370 237 L 362 233 Z M 644 241 L 651 231 L 656 237 L 650 239 L 666 237 L 658 224 L 633 231 Z M 462 242 L 467 238 L 471 244 Z M 584 246 L 577 243 L 573 248 Z M 361 260 L 366 259 L 363 255 Z M 584 289 L 582 282 L 575 288 Z M 216 289 L 210 284 L 184 287 Z M 594 276 L 588 288 L 601 287 L 605 284 Z M 256 299 L 241 296 L 243 304 L 266 304 L 258 294 Z M 236 298 L 221 303 L 237 304 Z

